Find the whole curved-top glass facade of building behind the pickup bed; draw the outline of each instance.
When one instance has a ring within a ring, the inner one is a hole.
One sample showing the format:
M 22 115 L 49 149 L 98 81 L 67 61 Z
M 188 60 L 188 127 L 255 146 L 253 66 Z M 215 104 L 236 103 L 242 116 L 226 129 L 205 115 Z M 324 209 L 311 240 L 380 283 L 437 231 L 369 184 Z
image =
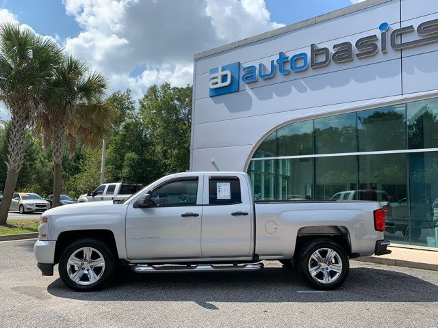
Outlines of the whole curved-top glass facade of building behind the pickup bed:
M 438 247 L 438 98 L 294 122 L 248 167 L 256 200 L 376 200 L 394 243 Z

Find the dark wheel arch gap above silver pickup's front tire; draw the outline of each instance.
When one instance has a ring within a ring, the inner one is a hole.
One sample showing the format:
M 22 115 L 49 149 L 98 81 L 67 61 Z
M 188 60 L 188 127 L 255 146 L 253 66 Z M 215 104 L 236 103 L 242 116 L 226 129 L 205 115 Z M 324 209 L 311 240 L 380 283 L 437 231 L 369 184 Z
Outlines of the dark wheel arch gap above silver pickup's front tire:
M 111 230 L 69 230 L 61 232 L 57 237 L 54 258 L 55 264 L 59 262 L 62 251 L 64 251 L 70 243 L 81 238 L 94 238 L 107 243 L 112 251 L 114 251 L 114 256 L 118 257 L 116 238 Z

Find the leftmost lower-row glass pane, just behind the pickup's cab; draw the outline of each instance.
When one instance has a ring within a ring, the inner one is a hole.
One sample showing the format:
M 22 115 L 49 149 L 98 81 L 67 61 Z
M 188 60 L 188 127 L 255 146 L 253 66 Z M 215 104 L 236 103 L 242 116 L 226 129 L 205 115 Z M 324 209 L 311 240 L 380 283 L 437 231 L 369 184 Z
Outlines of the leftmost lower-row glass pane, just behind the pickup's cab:
M 251 161 L 248 174 L 253 184 L 254 199 L 275 200 L 274 159 Z

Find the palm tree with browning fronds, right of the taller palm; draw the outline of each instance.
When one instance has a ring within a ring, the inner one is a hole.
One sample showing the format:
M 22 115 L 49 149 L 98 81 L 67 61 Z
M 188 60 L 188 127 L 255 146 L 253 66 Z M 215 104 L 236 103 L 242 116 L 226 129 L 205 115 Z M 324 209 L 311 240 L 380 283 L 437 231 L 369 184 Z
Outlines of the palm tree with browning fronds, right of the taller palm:
M 110 132 L 112 110 L 103 102 L 106 90 L 102 74 L 92 72 L 79 59 L 67 57 L 43 97 L 36 131 L 44 135 L 46 146 L 53 141 L 53 206 L 60 204 L 65 141 L 73 154 L 77 141 L 95 146 Z

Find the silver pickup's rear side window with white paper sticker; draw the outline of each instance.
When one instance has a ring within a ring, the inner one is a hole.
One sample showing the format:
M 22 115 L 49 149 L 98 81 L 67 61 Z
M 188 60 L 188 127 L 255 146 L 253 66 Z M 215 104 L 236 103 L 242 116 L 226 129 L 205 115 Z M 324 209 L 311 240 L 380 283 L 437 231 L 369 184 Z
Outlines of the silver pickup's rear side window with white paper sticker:
M 209 205 L 238 204 L 242 202 L 240 180 L 237 176 L 210 176 Z

